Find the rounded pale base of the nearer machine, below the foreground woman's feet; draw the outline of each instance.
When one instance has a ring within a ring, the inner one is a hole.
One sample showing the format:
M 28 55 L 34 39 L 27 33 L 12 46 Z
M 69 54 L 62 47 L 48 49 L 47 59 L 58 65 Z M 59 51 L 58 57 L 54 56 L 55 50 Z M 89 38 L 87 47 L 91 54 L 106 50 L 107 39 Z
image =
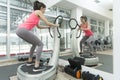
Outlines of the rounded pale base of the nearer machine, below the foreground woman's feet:
M 17 77 L 19 80 L 54 80 L 56 77 L 56 68 L 53 66 L 45 66 L 42 71 L 33 72 L 34 66 L 27 67 L 22 64 L 17 69 Z

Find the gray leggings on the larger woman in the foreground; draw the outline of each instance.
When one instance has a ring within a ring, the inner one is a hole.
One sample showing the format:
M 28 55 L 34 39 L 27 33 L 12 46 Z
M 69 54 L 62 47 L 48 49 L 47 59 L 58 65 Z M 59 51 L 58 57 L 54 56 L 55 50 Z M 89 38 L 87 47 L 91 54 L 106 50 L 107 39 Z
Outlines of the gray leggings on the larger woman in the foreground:
M 32 44 L 32 47 L 30 49 L 30 58 L 33 57 L 34 50 L 37 46 L 36 60 L 39 61 L 43 50 L 43 43 L 39 40 L 39 38 L 25 28 L 18 28 L 16 34 L 26 42 Z

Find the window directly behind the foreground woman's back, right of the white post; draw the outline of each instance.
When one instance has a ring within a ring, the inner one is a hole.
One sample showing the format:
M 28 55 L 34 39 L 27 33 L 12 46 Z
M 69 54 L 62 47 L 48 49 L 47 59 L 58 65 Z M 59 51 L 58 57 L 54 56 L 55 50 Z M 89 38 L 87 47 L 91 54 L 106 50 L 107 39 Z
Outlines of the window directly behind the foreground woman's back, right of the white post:
M 28 52 L 30 44 L 16 35 L 18 25 L 29 16 L 29 12 L 10 9 L 10 54 Z

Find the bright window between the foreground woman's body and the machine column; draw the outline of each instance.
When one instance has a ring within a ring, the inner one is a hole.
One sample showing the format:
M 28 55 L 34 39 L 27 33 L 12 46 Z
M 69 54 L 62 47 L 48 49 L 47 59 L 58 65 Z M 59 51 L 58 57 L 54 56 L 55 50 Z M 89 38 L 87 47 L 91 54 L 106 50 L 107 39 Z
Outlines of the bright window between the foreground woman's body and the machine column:
M 54 22 L 55 18 L 53 17 L 49 17 L 46 16 L 46 18 L 48 19 L 48 21 L 50 22 Z M 40 22 L 40 25 L 46 25 L 43 21 Z M 40 38 L 40 40 L 43 42 L 44 46 L 43 49 L 44 50 L 53 50 L 53 45 L 54 45 L 54 39 L 51 38 L 50 34 L 49 34 L 49 30 L 48 29 L 37 29 L 37 35 Z M 51 29 L 51 34 L 52 34 L 52 29 Z

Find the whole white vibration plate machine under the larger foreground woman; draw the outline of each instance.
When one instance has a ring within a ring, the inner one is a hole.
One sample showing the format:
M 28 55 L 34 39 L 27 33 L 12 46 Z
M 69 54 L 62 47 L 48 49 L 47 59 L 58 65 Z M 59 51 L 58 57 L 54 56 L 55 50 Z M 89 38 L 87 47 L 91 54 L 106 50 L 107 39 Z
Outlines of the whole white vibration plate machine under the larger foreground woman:
M 58 16 L 55 18 L 54 23 L 58 23 L 59 26 L 61 26 L 61 23 L 63 21 L 62 16 Z M 60 48 L 60 37 L 61 34 L 59 32 L 59 27 L 53 29 L 54 37 L 52 36 L 49 28 L 49 32 L 51 37 L 54 40 L 54 48 L 53 48 L 53 55 L 50 57 L 50 60 L 47 65 L 44 65 L 45 69 L 42 71 L 34 72 L 33 67 L 30 66 L 27 67 L 25 64 L 22 64 L 17 69 L 17 77 L 19 80 L 54 80 L 57 73 L 57 67 L 58 67 L 58 54 L 59 54 L 59 48 Z M 59 35 L 58 35 L 59 34 Z

